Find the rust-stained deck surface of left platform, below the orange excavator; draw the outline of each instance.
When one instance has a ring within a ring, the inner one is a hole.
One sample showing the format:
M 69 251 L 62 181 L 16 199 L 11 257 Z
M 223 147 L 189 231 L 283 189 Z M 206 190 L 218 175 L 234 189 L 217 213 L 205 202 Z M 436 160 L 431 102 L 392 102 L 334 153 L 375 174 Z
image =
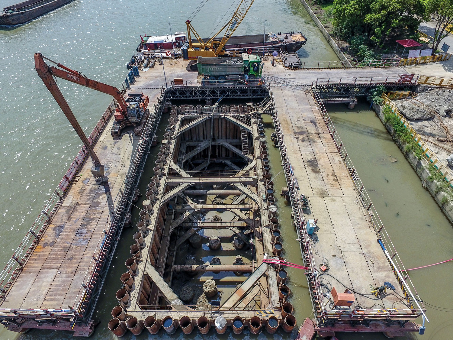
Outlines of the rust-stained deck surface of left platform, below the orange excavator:
M 95 146 L 108 185 L 96 185 L 92 162 L 87 160 L 1 308 L 60 309 L 80 299 L 139 139 L 131 131 L 114 141 L 112 124 L 113 116 Z

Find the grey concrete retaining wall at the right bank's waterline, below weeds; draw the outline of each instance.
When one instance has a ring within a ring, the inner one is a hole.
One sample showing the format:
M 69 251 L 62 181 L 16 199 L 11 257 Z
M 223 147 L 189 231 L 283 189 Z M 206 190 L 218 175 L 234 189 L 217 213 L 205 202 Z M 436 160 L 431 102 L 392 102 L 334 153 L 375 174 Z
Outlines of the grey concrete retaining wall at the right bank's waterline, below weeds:
M 396 140 L 395 131 L 393 130 L 393 127 L 387 126 L 387 124 L 385 124 L 384 115 L 382 114 L 382 107 L 378 106 L 376 104 L 373 104 L 373 109 L 374 109 L 374 112 L 376 112 L 377 117 L 379 117 L 379 119 L 381 119 L 384 126 L 386 126 L 387 131 L 389 131 L 390 135 L 392 135 L 392 137 L 394 138 L 396 145 L 398 145 L 398 147 L 400 148 L 400 151 L 403 153 L 403 155 L 405 155 L 406 159 L 409 161 L 409 164 L 412 166 L 412 168 L 415 170 L 415 172 L 419 176 L 420 180 L 422 181 L 423 187 L 426 190 L 428 190 L 428 192 L 431 194 L 431 196 L 433 196 L 434 200 L 439 205 L 439 208 L 442 210 L 443 214 L 447 217 L 448 221 L 450 221 L 450 223 L 453 224 L 453 204 L 452 204 L 452 202 L 448 202 L 447 204 L 442 205 L 441 201 L 443 199 L 443 196 L 445 196 L 445 194 L 443 192 L 439 192 L 439 194 L 435 194 L 437 181 L 434 180 L 434 181 L 430 182 L 430 181 L 426 180 L 428 178 L 428 176 L 431 175 L 428 170 L 428 163 L 425 160 L 419 160 L 417 157 L 414 156 L 413 152 L 406 153 L 404 151 L 404 145 L 400 141 Z

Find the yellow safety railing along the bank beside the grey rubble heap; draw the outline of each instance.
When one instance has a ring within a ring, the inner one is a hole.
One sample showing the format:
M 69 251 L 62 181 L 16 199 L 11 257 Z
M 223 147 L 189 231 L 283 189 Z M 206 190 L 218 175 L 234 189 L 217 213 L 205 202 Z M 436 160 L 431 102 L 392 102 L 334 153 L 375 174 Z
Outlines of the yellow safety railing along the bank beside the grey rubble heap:
M 422 139 L 422 137 L 414 130 L 414 128 L 410 125 L 410 122 L 401 114 L 400 110 L 394 103 L 391 102 L 390 99 L 401 99 L 408 97 L 410 92 L 384 92 L 382 93 L 382 105 L 390 106 L 390 109 L 396 116 L 400 118 L 401 123 L 404 124 L 406 129 L 410 131 L 412 135 L 412 139 L 417 142 L 420 148 L 423 150 L 423 157 L 425 160 L 428 161 L 429 164 L 433 165 L 437 172 L 439 172 L 443 176 L 443 180 L 445 180 L 450 187 L 453 188 L 453 175 L 448 170 L 447 166 L 444 166 L 442 162 L 436 157 L 434 151 L 432 151 L 429 146 L 426 146 Z M 440 166 L 439 166 L 440 165 Z

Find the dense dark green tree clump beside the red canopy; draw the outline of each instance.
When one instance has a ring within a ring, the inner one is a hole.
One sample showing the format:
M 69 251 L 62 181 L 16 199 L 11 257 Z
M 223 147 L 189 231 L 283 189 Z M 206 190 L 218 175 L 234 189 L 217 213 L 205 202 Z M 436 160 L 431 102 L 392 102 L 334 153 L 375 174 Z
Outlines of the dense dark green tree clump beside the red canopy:
M 421 1 L 334 0 L 334 33 L 343 40 L 351 41 L 352 49 L 361 49 L 360 57 L 370 60 L 374 56 L 361 45 L 377 50 L 389 39 L 413 34 L 424 18 L 425 10 Z M 352 41 L 355 37 L 366 39 Z

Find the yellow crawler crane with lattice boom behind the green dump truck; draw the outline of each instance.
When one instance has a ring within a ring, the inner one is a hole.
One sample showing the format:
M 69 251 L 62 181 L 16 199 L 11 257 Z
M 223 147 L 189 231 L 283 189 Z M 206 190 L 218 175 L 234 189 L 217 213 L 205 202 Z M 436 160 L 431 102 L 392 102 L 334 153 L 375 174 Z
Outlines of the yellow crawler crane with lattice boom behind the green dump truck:
M 242 19 L 246 16 L 248 10 L 253 4 L 254 0 L 241 0 L 239 6 L 236 8 L 231 19 L 221 28 L 219 31 L 212 36 L 208 41 L 204 42 L 197 31 L 193 28 L 190 23 L 191 18 L 186 21 L 187 25 L 187 34 L 188 34 L 188 48 L 187 48 L 187 57 L 188 59 L 197 59 L 198 56 L 201 57 L 217 57 L 217 56 L 228 56 L 229 53 L 225 52 L 225 44 L 236 30 L 237 26 L 241 24 Z M 202 5 L 206 3 L 206 0 L 202 1 L 202 4 L 199 6 L 201 9 Z M 195 13 L 195 12 L 194 12 Z M 194 16 L 194 15 L 193 15 Z M 225 31 L 225 32 L 224 32 Z M 221 36 L 223 33 L 222 40 L 214 40 L 217 36 Z M 192 34 L 194 39 L 197 39 L 198 42 L 192 42 Z M 185 53 L 183 53 L 184 55 Z M 185 59 L 185 58 L 184 58 Z

